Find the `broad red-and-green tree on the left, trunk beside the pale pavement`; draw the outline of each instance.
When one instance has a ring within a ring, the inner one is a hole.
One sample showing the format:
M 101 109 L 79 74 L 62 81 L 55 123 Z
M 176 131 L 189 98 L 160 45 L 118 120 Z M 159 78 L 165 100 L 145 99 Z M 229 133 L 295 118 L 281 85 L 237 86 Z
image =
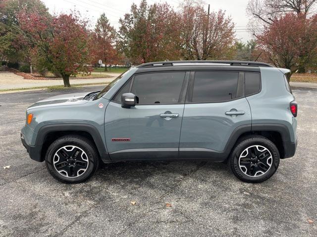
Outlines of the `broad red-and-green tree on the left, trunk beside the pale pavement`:
M 24 10 L 18 19 L 36 68 L 61 75 L 67 87 L 71 75 L 90 70 L 86 67 L 90 63 L 87 22 L 78 14 L 48 17 Z

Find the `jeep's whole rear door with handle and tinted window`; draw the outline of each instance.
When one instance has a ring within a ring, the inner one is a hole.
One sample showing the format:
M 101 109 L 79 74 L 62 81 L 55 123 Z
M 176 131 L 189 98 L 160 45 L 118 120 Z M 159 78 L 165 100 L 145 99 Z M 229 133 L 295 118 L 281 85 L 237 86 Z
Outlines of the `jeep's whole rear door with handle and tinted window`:
M 244 73 L 191 72 L 180 136 L 180 158 L 219 158 L 239 126 L 250 125 Z

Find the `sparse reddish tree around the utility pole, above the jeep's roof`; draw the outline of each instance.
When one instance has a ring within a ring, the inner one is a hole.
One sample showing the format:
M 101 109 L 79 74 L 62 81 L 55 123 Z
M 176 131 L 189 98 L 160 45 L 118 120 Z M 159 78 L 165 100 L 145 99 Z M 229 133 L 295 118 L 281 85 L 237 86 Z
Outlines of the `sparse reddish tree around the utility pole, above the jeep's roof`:
M 234 48 L 234 23 L 225 11 L 208 13 L 186 1 L 180 12 L 182 56 L 187 60 L 226 59 Z

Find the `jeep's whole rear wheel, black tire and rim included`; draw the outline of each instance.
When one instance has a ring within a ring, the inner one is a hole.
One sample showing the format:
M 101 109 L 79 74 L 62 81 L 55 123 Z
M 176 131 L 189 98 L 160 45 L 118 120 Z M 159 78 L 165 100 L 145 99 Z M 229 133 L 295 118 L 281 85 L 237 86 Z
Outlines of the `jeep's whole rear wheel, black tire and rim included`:
M 250 135 L 237 142 L 228 165 L 238 179 L 260 183 L 275 173 L 279 160 L 279 152 L 274 143 L 263 136 Z

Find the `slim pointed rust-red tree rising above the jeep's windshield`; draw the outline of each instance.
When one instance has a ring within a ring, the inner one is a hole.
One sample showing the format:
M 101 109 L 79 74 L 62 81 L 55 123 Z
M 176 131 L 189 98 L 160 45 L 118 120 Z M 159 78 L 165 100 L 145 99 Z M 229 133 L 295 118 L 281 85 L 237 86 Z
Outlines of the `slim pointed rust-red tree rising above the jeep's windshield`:
M 105 65 L 116 64 L 119 60 L 119 54 L 115 48 L 117 33 L 110 26 L 106 14 L 103 13 L 97 20 L 95 32 L 92 33 L 91 49 L 95 56 L 95 61 L 102 59 Z M 107 71 L 107 67 L 105 67 Z

